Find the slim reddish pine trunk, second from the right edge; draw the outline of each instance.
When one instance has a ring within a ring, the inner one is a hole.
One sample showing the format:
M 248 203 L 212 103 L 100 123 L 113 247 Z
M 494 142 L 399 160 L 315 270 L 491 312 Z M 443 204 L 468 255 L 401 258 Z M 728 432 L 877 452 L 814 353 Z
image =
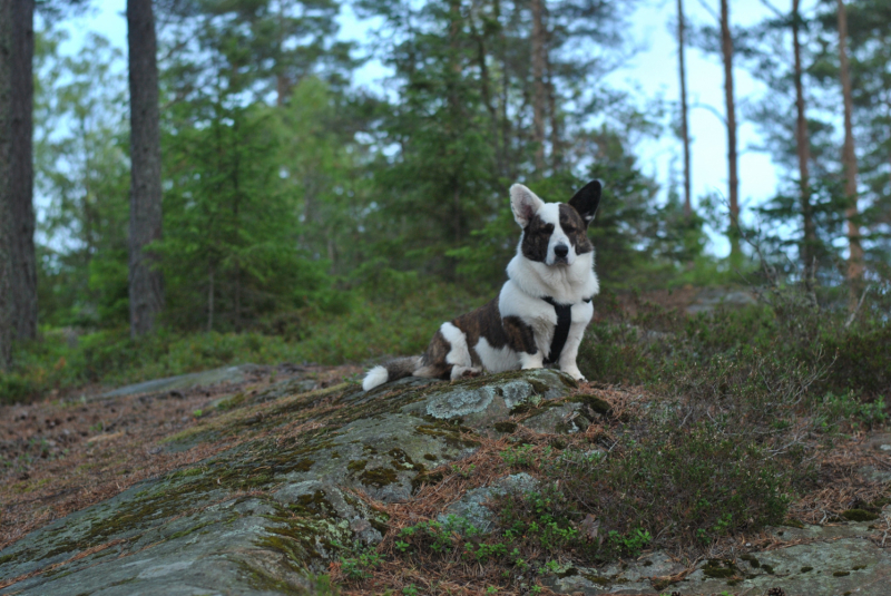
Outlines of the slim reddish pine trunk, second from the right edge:
M 803 70 L 801 66 L 801 29 L 800 0 L 792 0 L 792 47 L 795 55 L 795 141 L 799 153 L 799 192 L 801 193 L 801 216 L 804 224 L 804 240 L 801 246 L 801 261 L 804 266 L 804 277 L 815 273 L 816 254 L 816 226 L 814 225 L 813 209 L 811 207 L 811 139 L 807 131 L 807 117 L 804 107 Z

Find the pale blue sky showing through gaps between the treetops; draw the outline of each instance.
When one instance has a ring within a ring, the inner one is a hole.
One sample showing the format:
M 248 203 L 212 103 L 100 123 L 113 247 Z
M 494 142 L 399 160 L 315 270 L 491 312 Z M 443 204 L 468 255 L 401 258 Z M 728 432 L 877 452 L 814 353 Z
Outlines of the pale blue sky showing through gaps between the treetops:
M 701 0 L 714 6 L 718 0 Z M 685 12 L 693 23 L 714 21 L 703 8 L 701 1 L 686 0 Z M 786 9 L 782 0 L 775 2 Z M 803 2 L 806 10 L 813 2 Z M 87 16 L 72 20 L 68 26 L 71 39 L 63 51 L 75 52 L 82 43 L 84 35 L 94 30 L 108 37 L 112 43 L 125 50 L 126 56 L 126 19 L 124 10 L 126 0 L 97 0 L 95 9 Z M 639 51 L 624 68 L 607 77 L 614 87 L 639 89 L 647 97 L 662 94 L 668 100 L 678 98 L 677 45 L 674 33 L 668 30 L 669 22 L 676 17 L 675 0 L 646 0 L 631 17 L 634 41 L 642 46 Z M 758 0 L 732 0 L 731 19 L 742 26 L 752 25 L 768 14 L 768 10 Z M 349 8 L 341 14 L 344 39 L 363 40 L 369 25 L 356 20 Z M 707 105 L 724 114 L 724 76 L 718 56 L 706 56 L 695 49 L 687 49 L 687 95 L 691 106 Z M 388 70 L 379 62 L 370 62 L 356 75 L 356 82 L 375 88 L 386 77 Z M 737 99 L 738 150 L 740 157 L 740 198 L 743 209 L 762 203 L 776 189 L 777 173 L 765 154 L 746 150 L 757 145 L 760 137 L 755 127 L 746 123 L 740 107 L 747 97 L 756 98 L 765 92 L 764 86 L 754 80 L 746 71 L 735 71 L 735 95 Z M 706 108 L 693 108 L 689 113 L 692 139 L 692 169 L 694 205 L 696 197 L 717 190 L 722 196 L 727 194 L 726 129 L 718 117 Z M 655 175 L 659 183 L 668 179 L 669 164 L 677 159 L 678 174 L 683 167 L 679 141 L 666 134 L 659 141 L 645 140 L 637 147 L 640 164 L 645 172 Z M 730 247 L 719 236 L 712 235 L 712 251 L 723 256 Z

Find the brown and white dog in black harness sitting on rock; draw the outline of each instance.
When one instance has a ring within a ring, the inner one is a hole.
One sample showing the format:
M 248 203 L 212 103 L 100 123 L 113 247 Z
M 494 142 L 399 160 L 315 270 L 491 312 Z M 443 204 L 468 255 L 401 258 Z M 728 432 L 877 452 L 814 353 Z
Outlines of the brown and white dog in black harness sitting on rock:
M 556 363 L 576 380 L 578 346 L 594 316 L 600 286 L 588 224 L 600 203 L 600 182 L 569 203 L 545 203 L 526 186 L 510 187 L 510 208 L 522 228 L 508 281 L 497 299 L 442 323 L 423 355 L 374 367 L 365 391 L 403 377 L 458 379 L 486 369 L 502 372 Z

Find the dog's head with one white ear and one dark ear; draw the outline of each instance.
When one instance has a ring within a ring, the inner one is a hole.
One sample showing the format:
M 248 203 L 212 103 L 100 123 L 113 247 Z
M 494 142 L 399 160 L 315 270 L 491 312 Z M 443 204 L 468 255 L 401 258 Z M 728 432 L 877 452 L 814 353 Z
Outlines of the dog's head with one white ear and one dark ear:
M 522 255 L 546 265 L 569 266 L 594 251 L 587 231 L 599 203 L 600 180 L 586 184 L 569 203 L 545 203 L 526 186 L 511 186 L 510 208 L 522 228 Z

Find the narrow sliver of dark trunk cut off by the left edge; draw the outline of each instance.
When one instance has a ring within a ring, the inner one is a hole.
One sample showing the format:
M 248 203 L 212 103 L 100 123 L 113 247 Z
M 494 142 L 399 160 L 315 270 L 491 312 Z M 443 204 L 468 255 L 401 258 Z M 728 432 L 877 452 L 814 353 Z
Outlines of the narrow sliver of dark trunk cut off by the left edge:
M 10 364 L 12 342 L 12 205 L 10 149 L 12 137 L 12 4 L 0 0 L 0 371 Z

